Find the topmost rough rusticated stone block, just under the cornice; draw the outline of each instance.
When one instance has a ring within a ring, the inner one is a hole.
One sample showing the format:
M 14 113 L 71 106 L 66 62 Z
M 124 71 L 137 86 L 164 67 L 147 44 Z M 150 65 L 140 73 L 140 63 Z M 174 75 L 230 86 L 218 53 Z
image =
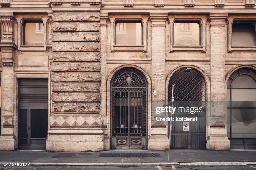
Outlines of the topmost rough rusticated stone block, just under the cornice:
M 99 12 L 55 12 L 52 20 L 56 21 L 100 21 Z

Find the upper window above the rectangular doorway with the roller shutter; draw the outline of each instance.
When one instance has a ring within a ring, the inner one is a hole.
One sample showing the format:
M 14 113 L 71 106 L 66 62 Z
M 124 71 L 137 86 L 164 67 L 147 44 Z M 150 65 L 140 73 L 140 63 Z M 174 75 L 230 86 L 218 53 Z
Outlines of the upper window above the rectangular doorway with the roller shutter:
M 44 24 L 42 21 L 24 21 L 23 45 L 44 45 Z

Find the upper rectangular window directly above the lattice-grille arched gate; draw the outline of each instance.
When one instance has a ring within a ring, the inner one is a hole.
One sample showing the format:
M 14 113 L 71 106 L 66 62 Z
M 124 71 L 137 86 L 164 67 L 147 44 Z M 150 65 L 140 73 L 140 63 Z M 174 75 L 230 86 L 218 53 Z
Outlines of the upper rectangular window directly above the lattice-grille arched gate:
M 200 46 L 200 34 L 199 22 L 177 21 L 174 23 L 174 46 Z

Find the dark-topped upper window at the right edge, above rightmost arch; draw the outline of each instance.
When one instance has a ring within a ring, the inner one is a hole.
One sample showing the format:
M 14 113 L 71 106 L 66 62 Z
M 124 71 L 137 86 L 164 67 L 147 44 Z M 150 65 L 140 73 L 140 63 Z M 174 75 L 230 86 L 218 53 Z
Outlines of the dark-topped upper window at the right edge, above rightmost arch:
M 232 46 L 256 46 L 256 22 L 234 22 L 232 24 Z

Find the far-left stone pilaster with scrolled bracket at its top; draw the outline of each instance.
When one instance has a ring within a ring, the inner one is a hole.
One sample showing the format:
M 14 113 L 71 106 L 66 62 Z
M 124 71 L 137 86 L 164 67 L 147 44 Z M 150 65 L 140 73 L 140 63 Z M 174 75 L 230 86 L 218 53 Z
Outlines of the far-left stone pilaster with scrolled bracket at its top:
M 16 118 L 13 115 L 13 65 L 14 52 L 17 48 L 13 42 L 13 14 L 5 13 L 0 16 L 1 28 L 1 65 L 2 65 L 2 112 L 0 150 L 17 149 L 17 139 L 14 136 Z

